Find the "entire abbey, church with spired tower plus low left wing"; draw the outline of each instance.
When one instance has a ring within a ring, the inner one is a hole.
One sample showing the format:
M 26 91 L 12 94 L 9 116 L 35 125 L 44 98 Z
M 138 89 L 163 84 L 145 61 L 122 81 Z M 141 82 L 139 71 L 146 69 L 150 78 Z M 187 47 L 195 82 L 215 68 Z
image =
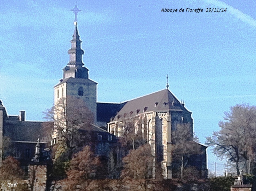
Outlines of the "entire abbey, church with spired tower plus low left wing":
M 157 170 L 160 170 L 165 179 L 172 178 L 172 132 L 176 131 L 178 124 L 190 124 L 188 132 L 193 139 L 192 113 L 168 88 L 124 103 L 97 102 L 97 83 L 89 78 L 89 70 L 82 61 L 84 54 L 81 49 L 82 41 L 78 33 L 77 22 L 75 21 L 74 24 L 74 34 L 70 41 L 71 48 L 68 50 L 69 62 L 63 68 L 63 78 L 54 86 L 54 103 L 68 96 L 82 99 L 93 114 L 93 126 L 98 132 L 99 142 L 103 140 L 103 137 L 109 142 L 118 139 L 122 136 L 121 132 L 127 121 L 132 120 L 134 133 L 140 134 L 141 138 L 151 145 L 152 155 L 156 158 L 153 176 Z M 19 116 L 7 115 L 6 109 L 0 102 L 0 163 L 4 154 L 3 137 L 9 137 L 15 142 L 16 158 L 22 160 L 24 164 L 31 160 L 35 153 L 36 140 L 43 138 L 40 133 L 43 124 L 44 122 L 26 121 L 24 111 L 21 111 Z M 53 133 L 52 143 L 56 143 L 57 139 L 58 134 Z M 47 147 L 47 142 L 41 141 L 40 144 L 44 145 L 43 148 Z M 189 164 L 200 171 L 201 178 L 206 178 L 206 147 L 195 144 L 201 153 L 192 157 Z M 113 155 L 111 152 L 109 154 Z

